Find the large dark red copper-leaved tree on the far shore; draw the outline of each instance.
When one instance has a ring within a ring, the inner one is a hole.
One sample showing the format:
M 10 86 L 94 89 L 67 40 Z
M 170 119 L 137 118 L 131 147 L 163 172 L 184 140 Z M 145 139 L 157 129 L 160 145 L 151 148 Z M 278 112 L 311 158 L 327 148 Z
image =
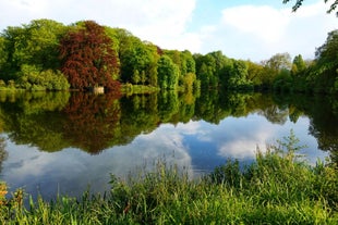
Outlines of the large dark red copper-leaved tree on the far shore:
M 119 74 L 119 63 L 112 40 L 97 23 L 85 21 L 70 29 L 61 39 L 60 58 L 62 73 L 72 88 L 104 86 L 110 91 L 120 90 L 120 83 L 113 78 Z

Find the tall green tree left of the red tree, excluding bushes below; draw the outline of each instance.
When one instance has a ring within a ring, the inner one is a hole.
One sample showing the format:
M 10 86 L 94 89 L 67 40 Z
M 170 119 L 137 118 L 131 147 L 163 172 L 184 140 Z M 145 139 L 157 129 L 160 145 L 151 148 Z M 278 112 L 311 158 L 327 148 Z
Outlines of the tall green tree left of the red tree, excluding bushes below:
M 8 42 L 9 72 L 20 71 L 23 64 L 41 70 L 59 68 L 59 42 L 65 30 L 63 24 L 51 20 L 36 20 L 22 27 L 8 27 L 2 36 Z

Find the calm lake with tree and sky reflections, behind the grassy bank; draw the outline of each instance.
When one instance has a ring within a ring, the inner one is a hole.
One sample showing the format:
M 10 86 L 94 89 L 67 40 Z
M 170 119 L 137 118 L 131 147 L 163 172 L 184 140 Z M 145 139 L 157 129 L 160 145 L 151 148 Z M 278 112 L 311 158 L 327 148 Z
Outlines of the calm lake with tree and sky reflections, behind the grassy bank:
M 0 180 L 36 197 L 109 189 L 159 160 L 198 177 L 292 130 L 311 164 L 338 155 L 338 100 L 324 96 L 0 92 Z

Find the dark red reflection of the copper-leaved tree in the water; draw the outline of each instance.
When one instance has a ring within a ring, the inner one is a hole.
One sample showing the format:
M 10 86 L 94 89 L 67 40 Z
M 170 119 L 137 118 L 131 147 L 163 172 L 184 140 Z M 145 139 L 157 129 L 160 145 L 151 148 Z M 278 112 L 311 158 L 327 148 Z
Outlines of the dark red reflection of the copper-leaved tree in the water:
M 120 97 L 107 95 L 72 95 L 63 109 L 67 123 L 63 136 L 68 142 L 93 154 L 121 140 Z

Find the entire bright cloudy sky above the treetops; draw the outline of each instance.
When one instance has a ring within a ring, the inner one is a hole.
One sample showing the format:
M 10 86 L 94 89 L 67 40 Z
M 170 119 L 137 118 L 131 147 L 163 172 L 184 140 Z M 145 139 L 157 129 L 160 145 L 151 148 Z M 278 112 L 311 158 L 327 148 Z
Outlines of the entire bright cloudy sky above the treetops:
M 329 0 L 330 2 L 333 0 Z M 0 30 L 50 18 L 70 25 L 92 20 L 125 28 L 162 49 L 259 62 L 289 52 L 313 59 L 338 17 L 329 3 L 305 0 L 298 12 L 282 0 L 0 0 Z

